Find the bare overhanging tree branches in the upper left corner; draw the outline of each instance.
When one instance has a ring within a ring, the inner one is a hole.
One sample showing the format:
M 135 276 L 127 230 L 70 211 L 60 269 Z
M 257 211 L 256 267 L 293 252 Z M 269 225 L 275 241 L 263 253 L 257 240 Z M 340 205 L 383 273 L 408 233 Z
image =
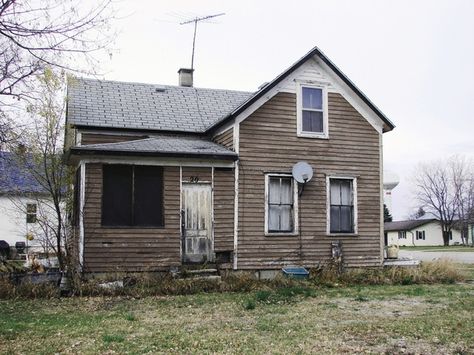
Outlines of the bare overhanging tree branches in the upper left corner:
M 91 73 L 93 53 L 113 37 L 112 0 L 0 0 L 0 144 L 16 124 L 5 116 L 15 99 L 33 99 L 34 79 L 46 67 Z

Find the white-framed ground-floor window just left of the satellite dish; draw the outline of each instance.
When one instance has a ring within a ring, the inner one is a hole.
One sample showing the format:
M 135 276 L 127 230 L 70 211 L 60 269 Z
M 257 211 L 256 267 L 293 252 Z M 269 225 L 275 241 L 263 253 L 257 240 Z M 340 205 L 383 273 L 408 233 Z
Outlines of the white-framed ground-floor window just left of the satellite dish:
M 293 199 L 293 178 L 287 176 L 268 177 L 268 232 L 294 231 Z

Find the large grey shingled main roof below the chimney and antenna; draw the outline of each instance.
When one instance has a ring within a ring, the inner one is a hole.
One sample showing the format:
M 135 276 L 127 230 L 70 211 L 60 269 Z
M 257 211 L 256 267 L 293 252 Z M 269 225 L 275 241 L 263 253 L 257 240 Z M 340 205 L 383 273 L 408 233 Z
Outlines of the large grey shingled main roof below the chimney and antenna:
M 78 126 L 202 133 L 251 95 L 80 78 L 68 86 L 67 120 Z

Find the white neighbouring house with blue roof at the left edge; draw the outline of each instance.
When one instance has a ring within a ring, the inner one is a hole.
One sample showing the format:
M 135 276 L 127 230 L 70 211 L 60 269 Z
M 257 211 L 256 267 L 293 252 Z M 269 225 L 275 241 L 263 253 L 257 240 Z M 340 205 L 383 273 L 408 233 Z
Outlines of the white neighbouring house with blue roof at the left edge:
M 38 219 L 52 212 L 46 211 L 47 196 L 12 153 L 0 152 L 0 240 L 10 247 L 25 242 L 28 253 L 46 253 L 49 248 Z

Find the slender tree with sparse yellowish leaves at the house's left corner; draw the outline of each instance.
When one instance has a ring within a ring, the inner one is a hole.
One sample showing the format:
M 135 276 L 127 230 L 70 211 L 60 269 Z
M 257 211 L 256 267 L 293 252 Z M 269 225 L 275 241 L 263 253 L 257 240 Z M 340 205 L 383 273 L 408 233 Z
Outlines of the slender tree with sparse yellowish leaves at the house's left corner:
M 40 94 L 28 106 L 31 122 L 24 133 L 24 149 L 17 150 L 17 159 L 46 193 L 46 198 L 37 199 L 41 242 L 54 250 L 64 270 L 69 236 L 68 185 L 72 181 L 72 173 L 63 163 L 66 76 L 47 68 L 38 76 L 37 86 Z

